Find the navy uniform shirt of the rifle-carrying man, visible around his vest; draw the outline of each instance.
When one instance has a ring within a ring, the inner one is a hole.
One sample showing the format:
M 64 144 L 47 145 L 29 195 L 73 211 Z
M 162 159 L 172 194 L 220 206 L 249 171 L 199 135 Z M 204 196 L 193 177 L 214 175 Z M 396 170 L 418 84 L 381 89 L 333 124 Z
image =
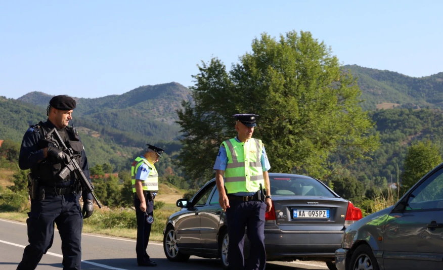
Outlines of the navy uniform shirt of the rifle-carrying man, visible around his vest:
M 47 120 L 45 124 L 51 129 L 56 127 L 50 120 Z M 66 130 L 66 132 L 68 131 Z M 38 161 L 45 158 L 45 156 L 43 155 L 43 148 L 47 147 L 47 145 L 44 142 L 42 142 L 42 140 L 43 138 L 37 128 L 29 127 L 28 130 L 26 130 L 25 135 L 23 136 L 22 145 L 20 147 L 20 156 L 19 156 L 20 169 L 22 170 L 30 169 L 32 166 L 36 165 Z M 87 158 L 84 152 L 84 148 L 83 150 L 81 150 L 81 169 L 86 178 L 88 179 L 88 181 L 91 183 L 89 166 L 87 164 Z M 57 187 L 59 186 L 63 187 L 63 185 L 70 186 L 73 184 L 74 182 L 73 180 L 71 180 L 69 183 L 63 183 L 63 184 L 59 183 Z M 83 200 L 85 199 L 92 200 L 93 199 L 92 194 L 88 193 L 87 197 L 83 196 Z

